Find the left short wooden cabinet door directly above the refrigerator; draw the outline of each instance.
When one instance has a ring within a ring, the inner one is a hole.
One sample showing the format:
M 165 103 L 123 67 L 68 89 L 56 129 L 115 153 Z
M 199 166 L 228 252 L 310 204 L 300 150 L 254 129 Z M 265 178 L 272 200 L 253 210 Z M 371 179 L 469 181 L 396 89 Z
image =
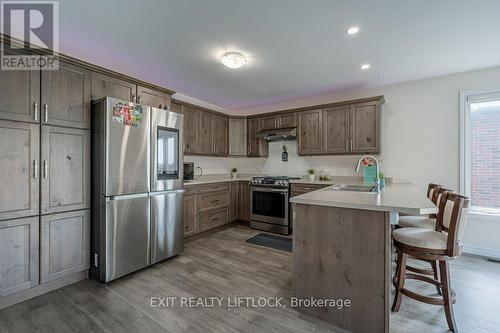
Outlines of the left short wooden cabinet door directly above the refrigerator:
M 106 96 L 135 102 L 137 86 L 100 73 L 92 73 L 92 100 Z

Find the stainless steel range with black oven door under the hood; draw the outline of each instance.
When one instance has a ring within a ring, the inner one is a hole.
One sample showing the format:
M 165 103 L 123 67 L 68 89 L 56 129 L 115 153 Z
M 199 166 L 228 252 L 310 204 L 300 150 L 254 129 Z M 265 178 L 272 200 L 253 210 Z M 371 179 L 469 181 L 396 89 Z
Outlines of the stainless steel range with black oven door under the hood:
M 289 180 L 286 176 L 250 180 L 250 227 L 283 235 L 290 233 Z

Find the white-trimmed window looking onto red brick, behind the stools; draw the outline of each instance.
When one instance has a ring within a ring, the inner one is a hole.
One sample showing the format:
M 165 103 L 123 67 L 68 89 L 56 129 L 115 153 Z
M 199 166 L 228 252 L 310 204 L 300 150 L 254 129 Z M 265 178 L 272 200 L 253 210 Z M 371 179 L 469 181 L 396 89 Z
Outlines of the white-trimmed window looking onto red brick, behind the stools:
M 461 192 L 471 210 L 500 215 L 500 88 L 461 93 Z

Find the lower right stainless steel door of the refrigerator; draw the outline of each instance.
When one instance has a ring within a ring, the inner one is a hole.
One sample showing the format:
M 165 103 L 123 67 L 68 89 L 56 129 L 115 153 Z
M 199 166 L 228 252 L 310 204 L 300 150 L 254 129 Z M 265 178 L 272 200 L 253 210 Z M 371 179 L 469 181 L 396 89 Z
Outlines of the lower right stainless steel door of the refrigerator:
M 184 190 L 150 193 L 152 264 L 184 249 L 183 195 Z

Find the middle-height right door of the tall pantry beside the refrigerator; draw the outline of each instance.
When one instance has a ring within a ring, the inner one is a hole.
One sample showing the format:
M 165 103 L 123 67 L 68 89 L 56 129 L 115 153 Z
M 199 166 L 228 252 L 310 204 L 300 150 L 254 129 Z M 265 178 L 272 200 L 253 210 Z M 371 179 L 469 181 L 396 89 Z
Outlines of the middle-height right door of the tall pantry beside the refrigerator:
M 90 131 L 42 126 L 41 212 L 90 208 Z

